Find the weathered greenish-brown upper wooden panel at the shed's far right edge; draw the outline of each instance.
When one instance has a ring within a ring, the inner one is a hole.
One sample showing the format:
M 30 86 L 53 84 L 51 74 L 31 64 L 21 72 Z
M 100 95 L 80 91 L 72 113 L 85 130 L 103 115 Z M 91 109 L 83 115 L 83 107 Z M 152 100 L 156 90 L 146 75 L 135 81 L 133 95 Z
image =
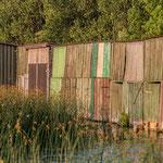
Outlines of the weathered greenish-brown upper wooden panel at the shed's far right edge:
M 163 79 L 163 38 L 145 41 L 145 80 Z

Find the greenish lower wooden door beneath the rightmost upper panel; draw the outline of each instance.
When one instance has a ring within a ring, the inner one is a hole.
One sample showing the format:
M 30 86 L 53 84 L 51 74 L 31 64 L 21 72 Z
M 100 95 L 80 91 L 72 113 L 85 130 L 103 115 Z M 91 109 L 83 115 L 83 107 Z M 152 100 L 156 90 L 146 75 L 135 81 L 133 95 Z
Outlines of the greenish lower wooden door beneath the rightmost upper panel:
M 143 121 L 159 121 L 160 83 L 145 83 L 143 86 Z

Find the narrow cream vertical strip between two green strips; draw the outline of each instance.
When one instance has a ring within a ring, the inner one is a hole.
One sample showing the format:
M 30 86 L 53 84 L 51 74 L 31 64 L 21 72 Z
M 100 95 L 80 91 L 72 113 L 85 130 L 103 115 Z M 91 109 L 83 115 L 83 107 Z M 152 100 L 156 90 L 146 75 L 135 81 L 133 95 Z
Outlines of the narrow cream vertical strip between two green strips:
M 97 77 L 102 77 L 104 43 L 99 43 Z

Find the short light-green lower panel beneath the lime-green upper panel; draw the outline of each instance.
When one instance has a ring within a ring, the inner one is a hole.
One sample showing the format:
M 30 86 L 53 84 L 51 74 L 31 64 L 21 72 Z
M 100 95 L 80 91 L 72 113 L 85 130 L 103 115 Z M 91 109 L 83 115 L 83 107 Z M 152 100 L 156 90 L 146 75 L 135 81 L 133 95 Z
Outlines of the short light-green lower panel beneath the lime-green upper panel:
M 61 91 L 61 78 L 51 78 L 50 89 L 52 90 L 52 93 L 59 93 Z

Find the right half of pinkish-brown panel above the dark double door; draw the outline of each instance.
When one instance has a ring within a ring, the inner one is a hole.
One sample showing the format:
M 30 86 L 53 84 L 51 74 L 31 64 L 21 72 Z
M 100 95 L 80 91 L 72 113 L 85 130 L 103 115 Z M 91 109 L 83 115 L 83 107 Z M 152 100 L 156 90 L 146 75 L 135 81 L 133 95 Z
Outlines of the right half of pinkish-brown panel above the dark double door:
M 49 47 L 35 50 L 38 53 L 38 63 L 49 63 Z

